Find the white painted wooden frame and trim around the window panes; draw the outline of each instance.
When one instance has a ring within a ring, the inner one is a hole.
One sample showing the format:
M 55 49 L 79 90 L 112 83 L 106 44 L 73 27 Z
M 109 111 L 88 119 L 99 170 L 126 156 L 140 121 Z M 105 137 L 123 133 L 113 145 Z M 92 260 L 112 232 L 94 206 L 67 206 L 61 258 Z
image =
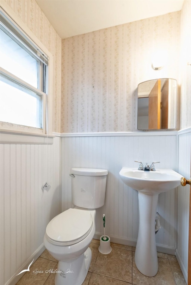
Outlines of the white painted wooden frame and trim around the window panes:
M 37 93 L 43 96 L 43 130 L 28 126 L 20 126 L 12 123 L 1 122 L 0 125 L 0 143 L 52 143 L 54 136 L 52 135 L 52 118 L 53 118 L 53 55 L 47 50 L 47 48 L 41 43 L 40 40 L 30 31 L 26 24 L 14 13 L 14 11 L 8 6 L 5 1 L 0 3 L 1 11 L 11 20 L 13 24 L 25 33 L 25 35 L 34 43 L 39 50 L 46 54 L 48 57 L 48 82 L 47 90 L 48 95 L 45 95 L 40 90 L 36 89 Z M 6 76 L 10 76 L 12 80 L 21 82 L 21 79 L 18 79 L 13 74 L 5 71 L 1 68 L 2 73 Z M 26 82 L 24 82 L 26 84 Z M 30 84 L 27 84 L 27 88 L 30 88 Z M 34 87 L 32 87 L 34 90 Z M 15 135 L 15 136 L 14 136 Z M 14 137 L 13 137 L 14 136 Z M 31 140 L 31 136 L 35 138 Z M 16 139 L 18 138 L 18 139 Z M 29 138 L 29 142 L 27 142 Z

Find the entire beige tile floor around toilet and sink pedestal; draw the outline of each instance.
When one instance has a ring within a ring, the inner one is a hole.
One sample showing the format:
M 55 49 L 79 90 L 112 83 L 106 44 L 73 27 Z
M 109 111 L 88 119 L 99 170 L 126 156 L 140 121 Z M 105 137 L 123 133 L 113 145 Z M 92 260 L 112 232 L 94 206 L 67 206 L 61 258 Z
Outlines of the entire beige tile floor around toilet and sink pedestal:
M 104 255 L 98 251 L 99 240 L 92 240 L 92 261 L 83 285 L 186 285 L 175 256 L 158 253 L 158 273 L 147 277 L 135 266 L 135 248 L 116 243 L 110 245 L 111 253 Z M 56 273 L 33 273 L 36 269 L 52 268 L 57 269 L 57 261 L 45 250 L 16 285 L 54 285 Z

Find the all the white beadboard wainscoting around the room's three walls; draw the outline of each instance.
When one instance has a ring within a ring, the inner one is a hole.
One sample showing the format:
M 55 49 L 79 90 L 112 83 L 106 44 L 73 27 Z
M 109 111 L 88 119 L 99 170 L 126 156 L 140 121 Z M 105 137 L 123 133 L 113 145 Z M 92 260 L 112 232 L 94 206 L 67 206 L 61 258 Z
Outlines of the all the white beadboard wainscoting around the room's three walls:
M 134 160 L 160 161 L 156 168 L 171 168 L 190 177 L 191 129 L 178 131 L 178 135 L 177 131 L 57 134 L 52 140 L 53 145 L 0 145 L 0 284 L 16 284 L 21 277 L 16 274 L 44 250 L 48 222 L 74 206 L 72 167 L 108 170 L 105 204 L 96 211 L 95 238 L 103 234 L 105 214 L 111 241 L 132 246 L 138 234 L 138 192 L 121 181 L 121 167 L 138 167 Z M 51 188 L 43 192 L 46 181 Z M 189 188 L 161 193 L 157 211 L 161 217 L 157 249 L 176 254 L 187 280 Z

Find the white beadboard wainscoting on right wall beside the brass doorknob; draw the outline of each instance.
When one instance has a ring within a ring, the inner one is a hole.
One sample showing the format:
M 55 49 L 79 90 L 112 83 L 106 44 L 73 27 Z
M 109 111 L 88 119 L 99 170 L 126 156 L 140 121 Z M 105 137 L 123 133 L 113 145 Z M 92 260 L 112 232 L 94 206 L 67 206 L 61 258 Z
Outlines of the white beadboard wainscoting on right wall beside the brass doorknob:
M 187 129 L 187 131 L 178 131 L 178 141 L 178 172 L 181 173 L 186 179 L 190 179 L 191 128 Z M 190 186 L 179 186 L 176 257 L 186 281 L 188 279 L 189 199 Z

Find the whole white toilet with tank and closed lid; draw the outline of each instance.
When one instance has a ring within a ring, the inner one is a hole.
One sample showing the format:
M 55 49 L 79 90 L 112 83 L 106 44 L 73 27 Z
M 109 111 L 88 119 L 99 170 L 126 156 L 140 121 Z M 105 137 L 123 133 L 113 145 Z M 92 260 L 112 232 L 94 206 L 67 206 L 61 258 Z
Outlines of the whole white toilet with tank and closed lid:
M 104 205 L 108 171 L 72 168 L 72 201 L 75 205 L 47 225 L 44 246 L 58 260 L 55 285 L 81 285 L 86 278 L 95 234 L 96 209 Z

